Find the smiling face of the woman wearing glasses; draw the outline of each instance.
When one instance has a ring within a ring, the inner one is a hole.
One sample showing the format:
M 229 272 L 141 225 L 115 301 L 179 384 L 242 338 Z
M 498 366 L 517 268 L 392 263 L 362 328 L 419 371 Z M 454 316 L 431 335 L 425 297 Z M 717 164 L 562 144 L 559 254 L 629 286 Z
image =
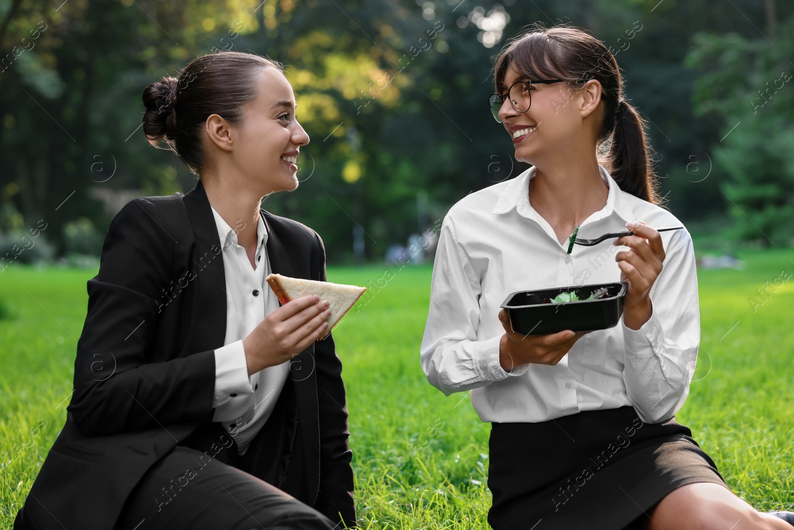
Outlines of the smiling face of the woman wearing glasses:
M 530 79 L 518 72 L 511 63 L 499 91 L 506 94 L 514 83 L 526 80 Z M 578 89 L 573 83 L 566 82 L 531 84 L 528 90 L 532 103 L 526 112 L 518 112 L 510 99 L 504 100 L 499 109 L 499 118 L 515 145 L 517 161 L 544 164 L 594 144 L 597 128 L 594 129 L 593 124 L 598 126 L 600 123 L 599 116 L 595 114 L 600 113 L 603 105 L 597 103 L 600 85 L 597 87 L 598 94 L 588 97 L 588 91 L 593 90 L 592 83 L 598 82 L 590 81 Z M 591 86 L 589 89 L 588 85 Z M 593 97 L 596 97 L 595 103 Z

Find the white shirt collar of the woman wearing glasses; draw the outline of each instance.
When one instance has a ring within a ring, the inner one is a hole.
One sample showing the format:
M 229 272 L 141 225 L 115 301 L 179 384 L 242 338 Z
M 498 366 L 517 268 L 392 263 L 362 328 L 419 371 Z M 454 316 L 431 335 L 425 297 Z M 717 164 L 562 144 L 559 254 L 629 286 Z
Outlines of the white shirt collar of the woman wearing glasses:
M 609 186 L 607 204 L 601 210 L 590 215 L 588 219 L 585 219 L 585 222 L 603 219 L 611 215 L 613 212 L 619 215 L 619 217 L 625 222 L 636 221 L 634 217 L 634 211 L 631 207 L 630 198 L 627 196 L 630 194 L 620 189 L 618 183 L 615 182 L 615 179 L 612 178 L 607 169 L 601 164 L 599 164 L 599 172 L 603 181 Z M 496 206 L 494 207 L 493 211 L 491 211 L 491 214 L 504 214 L 508 211 L 511 211 L 515 207 L 516 211 L 518 211 L 518 214 L 522 215 L 523 217 L 537 220 L 538 213 L 530 204 L 529 191 L 530 180 L 532 180 L 534 176 L 535 167 L 532 166 L 521 175 L 518 175 L 515 177 L 515 179 L 511 180 L 510 183 L 507 184 L 507 186 L 505 186 L 503 189 L 502 194 L 499 195 L 499 200 L 496 201 Z

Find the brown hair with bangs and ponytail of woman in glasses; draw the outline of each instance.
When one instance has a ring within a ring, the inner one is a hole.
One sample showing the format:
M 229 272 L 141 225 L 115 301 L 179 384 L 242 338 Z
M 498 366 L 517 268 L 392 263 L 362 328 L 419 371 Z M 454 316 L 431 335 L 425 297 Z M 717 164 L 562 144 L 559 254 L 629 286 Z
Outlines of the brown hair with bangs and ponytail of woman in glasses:
M 645 120 L 623 99 L 620 68 L 603 42 L 583 29 L 538 24 L 499 52 L 494 66 L 497 92 L 511 65 L 530 79 L 565 79 L 575 86 L 584 84 L 576 79 L 597 79 L 604 105 L 597 147 L 599 163 L 622 191 L 649 203 L 660 202 Z

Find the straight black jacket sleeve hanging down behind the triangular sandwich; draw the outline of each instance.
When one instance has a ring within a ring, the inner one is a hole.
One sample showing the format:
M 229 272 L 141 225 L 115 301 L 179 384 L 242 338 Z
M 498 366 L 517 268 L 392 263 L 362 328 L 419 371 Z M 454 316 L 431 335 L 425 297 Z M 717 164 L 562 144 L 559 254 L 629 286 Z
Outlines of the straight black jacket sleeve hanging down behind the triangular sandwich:
M 311 253 L 311 279 L 326 281 L 326 250 L 315 232 Z M 348 409 L 342 364 L 333 344 L 333 333 L 314 343 L 317 399 L 320 420 L 320 488 L 314 508 L 334 522 L 357 526 L 353 501 L 353 451 L 349 447 Z

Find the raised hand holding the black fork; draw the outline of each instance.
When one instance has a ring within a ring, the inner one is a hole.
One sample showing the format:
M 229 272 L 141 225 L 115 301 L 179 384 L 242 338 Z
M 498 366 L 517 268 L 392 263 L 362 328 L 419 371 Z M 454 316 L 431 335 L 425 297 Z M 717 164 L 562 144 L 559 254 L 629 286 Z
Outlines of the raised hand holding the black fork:
M 665 261 L 665 247 L 656 229 L 626 222 L 626 227 L 636 235 L 628 235 L 615 240 L 615 245 L 630 247 L 615 255 L 615 261 L 622 271 L 621 281 L 629 283 L 626 300 L 623 304 L 623 323 L 632 330 L 638 330 L 648 322 L 653 312 L 650 302 L 650 288 L 661 273 L 661 262 Z

